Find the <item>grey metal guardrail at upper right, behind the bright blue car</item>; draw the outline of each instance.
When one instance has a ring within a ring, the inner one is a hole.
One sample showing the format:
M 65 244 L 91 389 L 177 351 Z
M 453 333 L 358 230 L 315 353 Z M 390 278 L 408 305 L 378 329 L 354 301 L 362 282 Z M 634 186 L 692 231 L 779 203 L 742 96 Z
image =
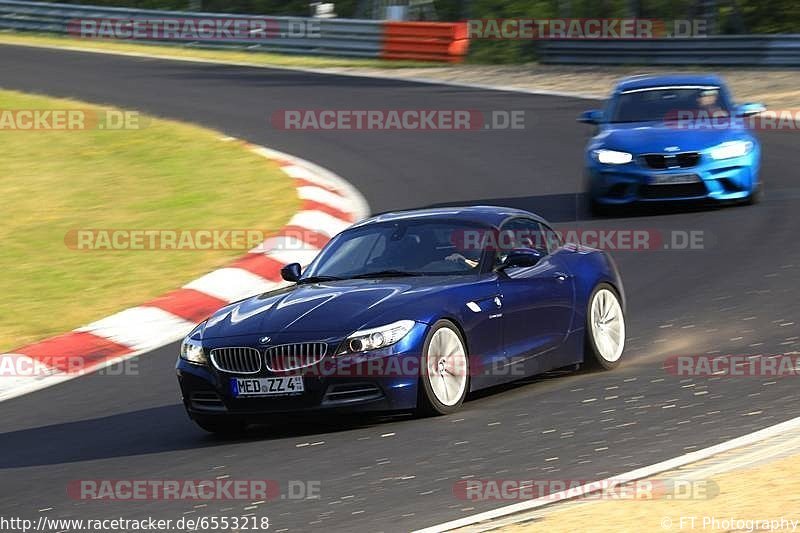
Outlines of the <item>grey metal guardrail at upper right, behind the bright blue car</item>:
M 800 66 L 800 34 L 640 40 L 551 40 L 542 63 L 594 65 Z

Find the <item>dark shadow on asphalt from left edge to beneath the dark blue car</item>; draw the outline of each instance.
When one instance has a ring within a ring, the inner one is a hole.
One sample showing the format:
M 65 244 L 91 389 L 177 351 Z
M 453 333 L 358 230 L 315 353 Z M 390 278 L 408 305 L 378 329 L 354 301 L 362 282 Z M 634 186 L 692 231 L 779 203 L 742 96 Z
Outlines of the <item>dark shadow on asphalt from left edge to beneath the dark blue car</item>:
M 117 415 L 52 424 L 0 434 L 0 469 L 324 435 L 378 424 L 396 417 L 293 416 L 253 426 L 241 438 L 222 439 L 197 428 L 183 406 L 167 405 Z

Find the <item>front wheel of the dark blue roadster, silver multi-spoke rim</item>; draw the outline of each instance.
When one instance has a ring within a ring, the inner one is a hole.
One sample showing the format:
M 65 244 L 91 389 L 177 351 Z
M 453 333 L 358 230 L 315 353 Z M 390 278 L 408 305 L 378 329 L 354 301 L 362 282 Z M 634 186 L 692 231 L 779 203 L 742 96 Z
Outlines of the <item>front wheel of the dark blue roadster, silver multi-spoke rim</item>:
M 420 368 L 419 410 L 438 415 L 458 410 L 469 390 L 469 358 L 461 333 L 449 320 L 431 327 Z

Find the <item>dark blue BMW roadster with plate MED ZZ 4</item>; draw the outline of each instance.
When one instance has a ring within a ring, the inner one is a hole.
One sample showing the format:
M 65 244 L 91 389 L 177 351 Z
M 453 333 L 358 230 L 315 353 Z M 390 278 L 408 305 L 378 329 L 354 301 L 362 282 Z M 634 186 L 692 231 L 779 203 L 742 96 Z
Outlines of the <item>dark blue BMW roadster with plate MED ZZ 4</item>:
M 375 216 L 283 288 L 199 324 L 177 363 L 202 428 L 299 411 L 447 414 L 478 389 L 554 368 L 614 368 L 625 299 L 610 256 L 502 207 Z

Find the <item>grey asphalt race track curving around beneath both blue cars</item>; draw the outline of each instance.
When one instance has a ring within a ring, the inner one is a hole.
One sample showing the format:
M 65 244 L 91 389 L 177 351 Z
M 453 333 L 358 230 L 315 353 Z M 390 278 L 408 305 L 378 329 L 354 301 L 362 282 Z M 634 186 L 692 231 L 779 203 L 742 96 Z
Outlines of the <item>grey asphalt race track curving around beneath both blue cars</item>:
M 320 482 L 317 500 L 258 505 L 271 530 L 407 531 L 503 504 L 456 498 L 460 479 L 597 479 L 797 416 L 792 378 L 692 379 L 662 368 L 670 355 L 800 349 L 797 133 L 762 134 L 760 205 L 591 220 L 576 208 L 590 130 L 575 118 L 595 102 L 12 46 L 0 46 L 0 85 L 196 122 L 296 154 L 346 177 L 374 212 L 504 204 L 582 228 L 702 231 L 705 243 L 614 253 L 629 330 L 617 371 L 529 380 L 454 416 L 295 420 L 218 440 L 183 413 L 175 345 L 142 356 L 138 376 L 93 375 L 0 403 L 2 515 L 254 512 L 249 501 L 75 501 L 65 489 L 75 479 L 228 475 Z M 269 122 L 276 110 L 307 108 L 524 110 L 526 128 L 300 132 Z

